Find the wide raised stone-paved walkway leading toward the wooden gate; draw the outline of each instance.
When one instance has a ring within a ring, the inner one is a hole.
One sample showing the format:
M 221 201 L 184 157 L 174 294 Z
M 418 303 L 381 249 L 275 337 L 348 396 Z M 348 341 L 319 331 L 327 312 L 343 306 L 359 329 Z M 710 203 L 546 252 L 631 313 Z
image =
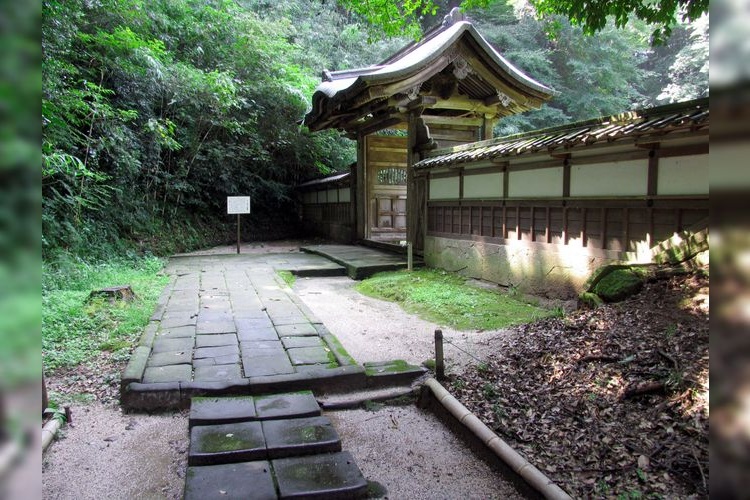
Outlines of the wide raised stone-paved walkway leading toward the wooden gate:
M 173 258 L 171 275 L 122 376 L 130 409 L 185 407 L 204 394 L 367 385 L 364 367 L 278 271 L 344 273 L 305 253 Z

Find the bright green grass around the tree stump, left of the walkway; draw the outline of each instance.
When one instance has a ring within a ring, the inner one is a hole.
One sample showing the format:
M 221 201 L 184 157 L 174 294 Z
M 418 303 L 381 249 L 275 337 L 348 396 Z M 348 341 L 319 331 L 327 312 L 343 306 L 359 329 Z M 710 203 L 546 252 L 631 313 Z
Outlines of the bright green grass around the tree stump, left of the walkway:
M 155 257 L 91 264 L 68 260 L 44 264 L 42 360 L 46 369 L 71 367 L 101 351 L 127 359 L 169 281 Z M 92 290 L 130 285 L 133 301 L 89 300 Z

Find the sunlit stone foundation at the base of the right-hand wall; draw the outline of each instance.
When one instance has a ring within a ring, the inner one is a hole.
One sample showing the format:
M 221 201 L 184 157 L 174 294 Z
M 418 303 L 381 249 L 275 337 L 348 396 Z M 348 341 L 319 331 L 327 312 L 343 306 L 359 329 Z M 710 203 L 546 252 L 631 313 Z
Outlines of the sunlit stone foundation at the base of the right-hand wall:
M 430 267 L 556 299 L 575 298 L 596 268 L 616 260 L 615 252 L 592 255 L 573 246 L 500 245 L 436 236 L 427 236 L 424 248 L 424 261 Z

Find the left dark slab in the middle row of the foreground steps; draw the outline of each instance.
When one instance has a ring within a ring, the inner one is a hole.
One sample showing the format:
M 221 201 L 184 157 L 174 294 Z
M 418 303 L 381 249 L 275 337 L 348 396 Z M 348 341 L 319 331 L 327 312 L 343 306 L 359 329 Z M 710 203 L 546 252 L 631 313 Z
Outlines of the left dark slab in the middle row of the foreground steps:
M 190 430 L 188 465 L 216 465 L 266 457 L 260 422 L 196 425 Z

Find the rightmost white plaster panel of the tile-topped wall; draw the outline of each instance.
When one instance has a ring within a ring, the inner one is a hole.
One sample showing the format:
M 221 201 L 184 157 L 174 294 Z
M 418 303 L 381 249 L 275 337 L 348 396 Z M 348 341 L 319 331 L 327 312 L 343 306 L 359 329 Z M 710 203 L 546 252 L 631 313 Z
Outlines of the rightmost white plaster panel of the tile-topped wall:
M 708 155 L 659 158 L 657 194 L 708 194 Z

